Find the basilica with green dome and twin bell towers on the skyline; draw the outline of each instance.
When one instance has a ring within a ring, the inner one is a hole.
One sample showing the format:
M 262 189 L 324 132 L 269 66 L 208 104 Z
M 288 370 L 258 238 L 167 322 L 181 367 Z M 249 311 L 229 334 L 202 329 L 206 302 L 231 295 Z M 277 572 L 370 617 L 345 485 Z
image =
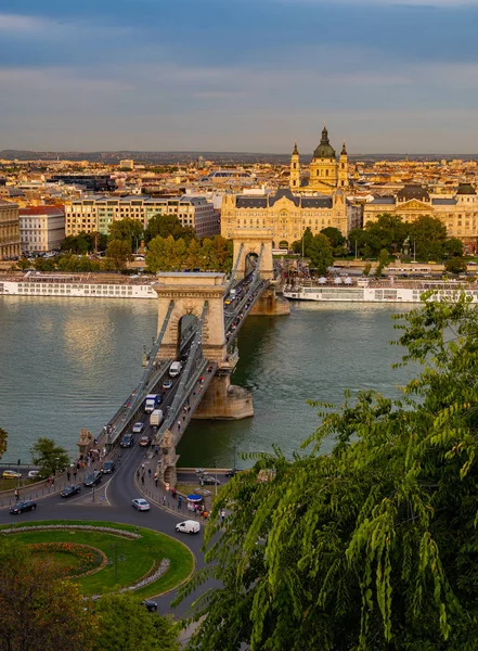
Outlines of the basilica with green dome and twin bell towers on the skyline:
M 322 139 L 313 152 L 309 167 L 309 180 L 303 184 L 300 180 L 300 155 L 296 142 L 290 157 L 289 187 L 294 192 L 307 194 L 332 194 L 338 188 L 348 188 L 348 156 L 345 142 L 337 161 L 335 150 L 328 140 L 328 131 L 323 128 Z

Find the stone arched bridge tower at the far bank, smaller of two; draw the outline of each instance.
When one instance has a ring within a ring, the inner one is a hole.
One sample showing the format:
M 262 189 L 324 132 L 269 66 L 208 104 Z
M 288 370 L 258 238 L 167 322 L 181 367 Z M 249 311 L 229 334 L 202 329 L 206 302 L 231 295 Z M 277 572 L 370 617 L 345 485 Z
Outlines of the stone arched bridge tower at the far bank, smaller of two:
M 272 241 L 274 234 L 269 228 L 237 228 L 232 234 L 234 242 L 234 280 L 241 280 L 251 270 L 251 261 L 260 256 L 260 277 L 274 278 Z M 237 263 L 238 258 L 238 263 Z M 236 265 L 237 263 L 237 265 Z

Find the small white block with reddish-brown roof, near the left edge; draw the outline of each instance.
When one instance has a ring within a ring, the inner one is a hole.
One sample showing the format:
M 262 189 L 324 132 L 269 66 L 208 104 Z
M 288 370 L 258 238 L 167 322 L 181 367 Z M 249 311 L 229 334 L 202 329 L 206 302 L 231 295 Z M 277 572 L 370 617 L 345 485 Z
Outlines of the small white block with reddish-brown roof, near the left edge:
M 20 208 L 20 239 L 24 253 L 60 248 L 65 239 L 65 213 L 55 206 Z

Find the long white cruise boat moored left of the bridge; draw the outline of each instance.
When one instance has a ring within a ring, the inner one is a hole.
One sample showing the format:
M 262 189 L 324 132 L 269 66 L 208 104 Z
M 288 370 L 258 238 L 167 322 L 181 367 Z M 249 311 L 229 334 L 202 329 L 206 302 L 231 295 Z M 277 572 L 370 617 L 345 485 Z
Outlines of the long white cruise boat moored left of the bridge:
M 115 282 L 117 280 L 117 282 Z M 118 282 L 119 281 L 119 282 Z M 0 276 L 0 296 L 59 296 L 81 298 L 157 298 L 143 279 L 95 278 L 93 273 L 55 275 L 27 271 L 25 276 Z

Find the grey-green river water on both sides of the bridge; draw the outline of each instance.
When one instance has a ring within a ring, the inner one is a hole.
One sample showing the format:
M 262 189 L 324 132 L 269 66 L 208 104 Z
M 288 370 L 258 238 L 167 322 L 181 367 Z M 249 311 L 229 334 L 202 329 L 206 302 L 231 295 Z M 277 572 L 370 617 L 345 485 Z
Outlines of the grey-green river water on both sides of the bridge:
M 29 461 L 39 436 L 72 456 L 79 431 L 101 430 L 140 374 L 143 345 L 156 332 L 156 302 L 0 297 L 0 427 L 3 461 Z M 402 308 L 403 309 L 403 308 Z M 392 314 L 379 304 L 295 303 L 289 317 L 249 317 L 238 337 L 233 382 L 253 393 L 255 417 L 193 422 L 180 465 L 231 467 L 241 452 L 297 450 L 318 426 L 307 400 L 340 403 L 346 388 L 397 396 L 410 369 L 392 370 L 401 350 Z

